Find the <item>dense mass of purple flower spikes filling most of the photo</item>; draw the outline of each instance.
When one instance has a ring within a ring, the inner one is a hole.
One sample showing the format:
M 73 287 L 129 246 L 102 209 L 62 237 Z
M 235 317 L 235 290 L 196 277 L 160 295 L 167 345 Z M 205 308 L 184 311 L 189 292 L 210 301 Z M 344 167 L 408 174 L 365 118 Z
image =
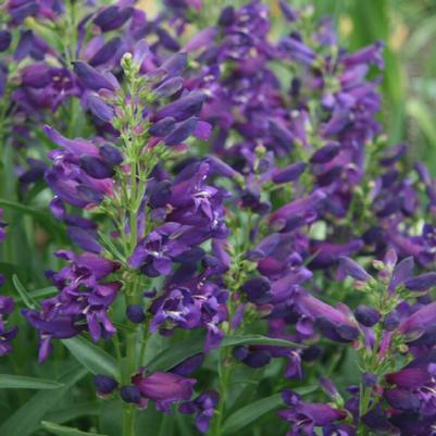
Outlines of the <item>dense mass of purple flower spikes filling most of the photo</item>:
M 71 244 L 55 295 L 22 311 L 39 361 L 78 335 L 115 351 L 95 386 L 121 400 L 123 436 L 150 401 L 224 434 L 239 370 L 274 374 L 289 436 L 431 435 L 435 180 L 381 135 L 383 43 L 350 53 L 285 1 L 281 35 L 259 0 L 208 20 L 164 3 L 153 20 L 129 0 L 7 3 L 18 179 L 43 179 Z M 23 164 L 35 126 L 49 159 Z M 0 354 L 12 308 L 0 298 Z M 333 347 L 358 361 L 339 388 Z M 306 398 L 329 360 L 328 400 Z

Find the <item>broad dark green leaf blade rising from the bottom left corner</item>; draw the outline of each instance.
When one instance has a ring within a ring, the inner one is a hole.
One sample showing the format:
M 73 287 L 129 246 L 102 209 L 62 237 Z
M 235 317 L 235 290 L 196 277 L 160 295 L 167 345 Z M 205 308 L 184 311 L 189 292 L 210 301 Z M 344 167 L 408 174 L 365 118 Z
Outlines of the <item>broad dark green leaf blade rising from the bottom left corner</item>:
M 55 390 L 40 390 L 17 409 L 0 427 L 0 435 L 29 436 L 39 428 L 45 414 L 55 408 L 62 397 L 71 394 L 71 388 L 86 375 L 84 369 L 74 368 L 58 382 L 64 386 Z

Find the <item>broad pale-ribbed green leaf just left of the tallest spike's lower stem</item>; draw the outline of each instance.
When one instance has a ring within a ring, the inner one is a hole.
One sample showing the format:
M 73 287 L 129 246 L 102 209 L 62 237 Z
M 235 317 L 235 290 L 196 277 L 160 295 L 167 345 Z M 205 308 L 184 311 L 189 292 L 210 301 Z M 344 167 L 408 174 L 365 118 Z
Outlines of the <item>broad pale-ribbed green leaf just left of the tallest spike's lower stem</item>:
M 62 342 L 92 374 L 105 374 L 120 379 L 115 359 L 103 349 L 80 336 L 63 339 Z

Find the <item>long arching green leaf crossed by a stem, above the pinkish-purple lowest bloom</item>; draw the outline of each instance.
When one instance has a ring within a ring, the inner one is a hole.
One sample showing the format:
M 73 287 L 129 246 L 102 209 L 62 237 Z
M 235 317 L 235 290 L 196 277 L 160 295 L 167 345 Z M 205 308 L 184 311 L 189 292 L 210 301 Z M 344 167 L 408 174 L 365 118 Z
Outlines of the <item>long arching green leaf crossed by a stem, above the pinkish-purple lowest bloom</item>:
M 227 336 L 221 342 L 221 347 L 234 347 L 237 345 L 270 345 L 276 347 L 302 348 L 301 344 L 291 342 L 290 340 L 270 338 L 262 335 L 235 335 Z M 177 345 L 171 346 L 155 356 L 151 361 L 146 363 L 150 371 L 167 371 L 182 363 L 185 359 L 198 354 L 204 348 L 204 338 L 195 340 L 184 340 Z

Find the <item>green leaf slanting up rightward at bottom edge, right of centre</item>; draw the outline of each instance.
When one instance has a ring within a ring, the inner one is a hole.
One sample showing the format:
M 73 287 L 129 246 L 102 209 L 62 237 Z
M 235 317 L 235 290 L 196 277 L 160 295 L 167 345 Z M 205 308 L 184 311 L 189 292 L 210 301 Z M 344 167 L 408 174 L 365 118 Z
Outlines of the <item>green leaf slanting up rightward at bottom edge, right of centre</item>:
M 239 409 L 237 412 L 231 414 L 227 420 L 225 420 L 223 435 L 235 435 L 238 431 L 251 424 L 263 414 L 271 412 L 281 406 L 283 406 L 281 394 L 275 394 L 271 397 L 251 402 L 242 409 Z

